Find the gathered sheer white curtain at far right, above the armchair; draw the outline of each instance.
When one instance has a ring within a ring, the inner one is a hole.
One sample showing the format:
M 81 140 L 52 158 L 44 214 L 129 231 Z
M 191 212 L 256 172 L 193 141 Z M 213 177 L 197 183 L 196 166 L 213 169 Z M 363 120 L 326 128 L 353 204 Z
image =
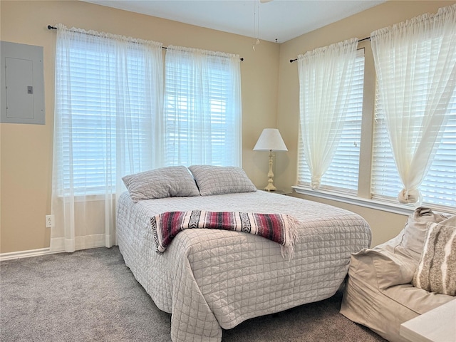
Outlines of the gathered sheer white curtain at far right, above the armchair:
M 421 204 L 427 174 L 456 86 L 456 4 L 371 33 L 401 203 Z M 424 110 L 420 110 L 424 108 Z

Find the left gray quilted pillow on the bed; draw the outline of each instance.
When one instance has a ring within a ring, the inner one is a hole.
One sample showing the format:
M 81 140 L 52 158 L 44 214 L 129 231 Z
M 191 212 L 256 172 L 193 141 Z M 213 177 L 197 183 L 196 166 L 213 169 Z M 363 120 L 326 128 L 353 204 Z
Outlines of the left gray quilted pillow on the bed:
M 122 178 L 133 202 L 173 196 L 199 196 L 195 180 L 185 166 L 169 166 Z

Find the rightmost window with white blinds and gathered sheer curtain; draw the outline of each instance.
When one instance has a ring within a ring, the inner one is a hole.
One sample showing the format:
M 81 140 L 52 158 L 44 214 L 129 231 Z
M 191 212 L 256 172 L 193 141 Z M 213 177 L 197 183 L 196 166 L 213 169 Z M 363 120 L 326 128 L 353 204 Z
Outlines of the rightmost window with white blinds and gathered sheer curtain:
M 456 207 L 455 11 L 371 33 L 373 198 Z

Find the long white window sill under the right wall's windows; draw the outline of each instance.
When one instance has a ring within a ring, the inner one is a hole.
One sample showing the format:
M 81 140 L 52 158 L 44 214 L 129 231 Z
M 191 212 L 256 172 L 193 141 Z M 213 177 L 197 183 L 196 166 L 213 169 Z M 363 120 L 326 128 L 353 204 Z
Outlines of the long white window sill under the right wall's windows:
M 414 207 L 405 207 L 401 204 L 394 204 L 388 202 L 375 201 L 374 199 L 367 199 L 361 197 L 354 197 L 349 195 L 336 194 L 333 192 L 326 192 L 322 190 L 311 190 L 297 185 L 292 187 L 297 193 L 301 195 L 315 196 L 324 199 L 332 199 L 333 201 L 359 205 L 371 209 L 382 210 L 383 212 L 393 212 L 395 214 L 410 215 L 415 210 Z

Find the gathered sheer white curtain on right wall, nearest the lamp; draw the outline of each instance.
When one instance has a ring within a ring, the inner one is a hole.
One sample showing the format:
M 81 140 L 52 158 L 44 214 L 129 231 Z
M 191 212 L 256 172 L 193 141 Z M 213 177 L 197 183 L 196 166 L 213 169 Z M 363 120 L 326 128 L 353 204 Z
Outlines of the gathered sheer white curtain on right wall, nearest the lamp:
M 333 160 L 343 130 L 353 82 L 358 39 L 298 56 L 300 135 L 311 173 L 311 188 Z

